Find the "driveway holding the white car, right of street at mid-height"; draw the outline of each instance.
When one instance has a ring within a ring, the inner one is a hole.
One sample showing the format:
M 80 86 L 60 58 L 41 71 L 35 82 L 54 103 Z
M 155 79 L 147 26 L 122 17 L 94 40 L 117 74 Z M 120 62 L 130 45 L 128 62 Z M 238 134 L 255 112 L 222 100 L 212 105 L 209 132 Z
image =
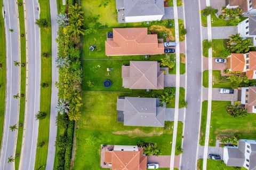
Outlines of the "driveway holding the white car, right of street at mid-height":
M 208 88 L 203 87 L 203 101 L 208 100 Z M 219 88 L 212 88 L 212 100 L 216 101 L 234 101 L 238 100 L 238 90 L 234 89 L 234 94 L 221 94 Z

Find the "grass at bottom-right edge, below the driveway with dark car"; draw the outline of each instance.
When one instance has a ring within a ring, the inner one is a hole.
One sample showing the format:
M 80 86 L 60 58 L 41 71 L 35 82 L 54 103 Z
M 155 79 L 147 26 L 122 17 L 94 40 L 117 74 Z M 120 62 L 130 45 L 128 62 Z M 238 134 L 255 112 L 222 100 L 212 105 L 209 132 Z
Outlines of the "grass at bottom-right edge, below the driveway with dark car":
M 203 159 L 197 160 L 197 169 L 203 170 Z M 244 167 L 226 166 L 222 160 L 207 159 L 207 170 L 246 170 Z

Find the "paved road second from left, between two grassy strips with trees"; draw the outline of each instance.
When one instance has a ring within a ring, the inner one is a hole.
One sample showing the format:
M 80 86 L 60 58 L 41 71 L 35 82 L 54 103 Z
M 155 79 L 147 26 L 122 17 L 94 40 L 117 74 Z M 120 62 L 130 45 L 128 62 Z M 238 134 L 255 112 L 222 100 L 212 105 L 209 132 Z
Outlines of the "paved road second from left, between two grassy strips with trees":
M 27 106 L 25 110 L 25 126 L 23 131 L 21 158 L 19 169 L 33 170 L 35 167 L 37 136 L 39 122 L 35 115 L 40 106 L 40 33 L 35 25 L 35 20 L 39 18 L 38 2 L 36 0 L 27 1 L 26 9 L 26 29 L 28 40 L 28 89 Z

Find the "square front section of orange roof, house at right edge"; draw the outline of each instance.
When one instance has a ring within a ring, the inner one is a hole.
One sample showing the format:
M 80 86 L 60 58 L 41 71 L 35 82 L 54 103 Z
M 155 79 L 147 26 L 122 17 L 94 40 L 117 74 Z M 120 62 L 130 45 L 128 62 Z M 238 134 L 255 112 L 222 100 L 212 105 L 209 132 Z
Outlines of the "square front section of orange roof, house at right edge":
M 244 70 L 244 54 L 232 53 L 231 54 L 231 71 L 243 71 Z

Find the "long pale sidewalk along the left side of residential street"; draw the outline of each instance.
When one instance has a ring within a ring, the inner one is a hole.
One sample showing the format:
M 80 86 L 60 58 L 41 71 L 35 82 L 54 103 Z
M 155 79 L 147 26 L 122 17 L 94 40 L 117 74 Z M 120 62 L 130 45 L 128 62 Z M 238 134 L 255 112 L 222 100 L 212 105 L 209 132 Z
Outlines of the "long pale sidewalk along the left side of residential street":
M 183 8 L 181 8 L 183 11 Z M 175 90 L 175 110 L 174 110 L 174 125 L 173 125 L 173 137 L 172 137 L 172 152 L 170 161 L 170 170 L 174 167 L 175 147 L 177 140 L 177 128 L 179 118 L 179 95 L 180 95 L 180 41 L 179 41 L 179 22 L 178 22 L 178 7 L 177 0 L 173 0 L 173 12 L 175 23 L 175 42 L 176 42 L 176 90 Z M 182 12 L 183 17 L 183 12 Z

